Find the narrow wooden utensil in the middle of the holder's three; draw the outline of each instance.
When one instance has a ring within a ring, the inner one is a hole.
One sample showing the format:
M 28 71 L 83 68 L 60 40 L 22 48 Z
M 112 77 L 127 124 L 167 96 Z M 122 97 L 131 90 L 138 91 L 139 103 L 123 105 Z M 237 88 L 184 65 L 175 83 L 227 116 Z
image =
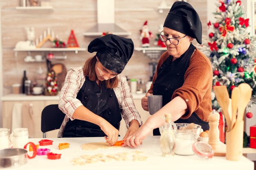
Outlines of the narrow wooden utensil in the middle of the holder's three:
M 232 99 L 232 117 L 231 117 L 231 130 L 232 130 L 236 123 L 237 106 L 240 99 L 240 89 L 238 87 L 233 88 L 231 92 L 231 99 Z

